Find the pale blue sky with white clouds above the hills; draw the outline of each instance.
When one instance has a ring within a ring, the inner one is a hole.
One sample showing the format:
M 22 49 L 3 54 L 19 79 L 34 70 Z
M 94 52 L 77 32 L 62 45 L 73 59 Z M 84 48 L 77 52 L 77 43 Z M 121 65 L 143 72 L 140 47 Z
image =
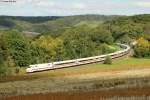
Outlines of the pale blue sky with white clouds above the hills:
M 79 14 L 134 15 L 150 13 L 150 0 L 0 0 L 0 15 L 67 16 Z

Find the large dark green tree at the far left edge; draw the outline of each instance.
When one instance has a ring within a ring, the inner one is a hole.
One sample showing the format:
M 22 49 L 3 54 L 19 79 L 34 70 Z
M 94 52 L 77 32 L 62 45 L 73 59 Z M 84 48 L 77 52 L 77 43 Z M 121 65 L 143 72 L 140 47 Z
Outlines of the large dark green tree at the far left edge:
M 11 56 L 18 66 L 28 66 L 31 62 L 30 45 L 27 39 L 16 30 L 5 32 L 1 36 L 2 49 Z

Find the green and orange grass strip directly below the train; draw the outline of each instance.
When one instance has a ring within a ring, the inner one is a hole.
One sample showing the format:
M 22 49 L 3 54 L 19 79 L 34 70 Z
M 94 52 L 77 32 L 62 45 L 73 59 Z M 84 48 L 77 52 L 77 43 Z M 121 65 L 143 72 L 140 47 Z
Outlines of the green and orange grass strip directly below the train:
M 150 59 L 138 59 L 138 58 L 123 58 L 113 61 L 112 65 L 105 65 L 101 63 L 89 64 L 71 68 L 49 70 L 44 72 L 34 73 L 35 75 L 47 75 L 47 76 L 66 76 L 76 74 L 87 74 L 101 71 L 115 71 L 115 70 L 128 70 L 136 68 L 150 67 Z

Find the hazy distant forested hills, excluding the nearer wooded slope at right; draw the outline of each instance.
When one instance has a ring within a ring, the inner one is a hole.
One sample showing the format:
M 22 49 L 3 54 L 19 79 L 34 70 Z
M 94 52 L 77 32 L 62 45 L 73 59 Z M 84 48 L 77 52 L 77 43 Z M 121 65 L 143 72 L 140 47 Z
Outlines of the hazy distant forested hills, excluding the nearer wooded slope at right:
M 51 17 L 15 17 L 0 16 L 0 30 L 17 29 L 38 33 L 61 33 L 66 28 L 79 25 L 97 27 L 105 21 L 117 16 L 78 15 L 78 16 L 51 16 Z

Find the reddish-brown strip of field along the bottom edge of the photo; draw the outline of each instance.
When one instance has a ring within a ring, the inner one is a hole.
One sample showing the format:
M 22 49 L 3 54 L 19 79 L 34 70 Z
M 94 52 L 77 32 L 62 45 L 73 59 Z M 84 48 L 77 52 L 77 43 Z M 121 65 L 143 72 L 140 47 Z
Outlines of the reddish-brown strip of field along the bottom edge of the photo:
M 149 89 L 130 88 L 95 92 L 48 93 L 4 97 L 1 100 L 150 100 Z

